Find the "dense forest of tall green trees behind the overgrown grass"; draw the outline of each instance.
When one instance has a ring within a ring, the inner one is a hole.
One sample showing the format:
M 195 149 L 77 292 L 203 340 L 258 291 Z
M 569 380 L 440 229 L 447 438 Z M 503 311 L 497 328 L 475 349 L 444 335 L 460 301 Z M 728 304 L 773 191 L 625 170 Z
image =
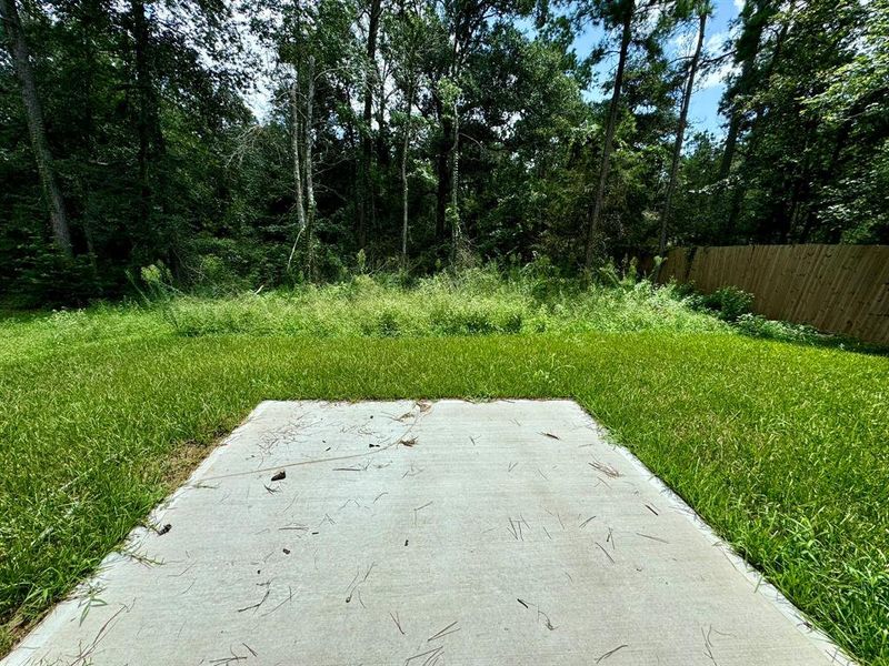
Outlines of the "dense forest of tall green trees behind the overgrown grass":
M 747 0 L 717 53 L 712 11 L 0 0 L 0 297 L 889 242 L 889 0 Z

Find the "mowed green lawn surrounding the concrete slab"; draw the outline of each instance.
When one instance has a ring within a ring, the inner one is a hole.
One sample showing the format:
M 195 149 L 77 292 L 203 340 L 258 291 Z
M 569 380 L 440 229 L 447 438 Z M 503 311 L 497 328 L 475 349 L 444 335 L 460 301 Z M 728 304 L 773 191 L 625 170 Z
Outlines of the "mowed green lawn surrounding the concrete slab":
M 682 332 L 690 320 L 622 333 L 200 335 L 111 310 L 70 315 L 96 317 L 89 333 L 47 317 L 0 326 L 0 654 L 261 400 L 558 396 L 841 646 L 889 665 L 889 359 L 706 322 Z

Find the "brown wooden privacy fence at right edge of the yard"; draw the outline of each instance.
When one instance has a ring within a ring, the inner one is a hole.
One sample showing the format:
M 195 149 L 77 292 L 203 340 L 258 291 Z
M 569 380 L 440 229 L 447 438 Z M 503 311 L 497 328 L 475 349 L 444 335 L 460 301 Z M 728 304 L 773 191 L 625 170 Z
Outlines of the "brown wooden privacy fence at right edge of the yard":
M 661 282 L 733 285 L 769 319 L 889 345 L 889 245 L 736 245 L 670 250 Z

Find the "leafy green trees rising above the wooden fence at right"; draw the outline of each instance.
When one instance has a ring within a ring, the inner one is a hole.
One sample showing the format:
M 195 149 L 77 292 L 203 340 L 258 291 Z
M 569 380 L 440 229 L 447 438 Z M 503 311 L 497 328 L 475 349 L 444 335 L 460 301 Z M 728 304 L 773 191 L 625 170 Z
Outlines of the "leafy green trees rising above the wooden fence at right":
M 725 145 L 687 159 L 678 243 L 889 242 L 886 0 L 749 0 Z

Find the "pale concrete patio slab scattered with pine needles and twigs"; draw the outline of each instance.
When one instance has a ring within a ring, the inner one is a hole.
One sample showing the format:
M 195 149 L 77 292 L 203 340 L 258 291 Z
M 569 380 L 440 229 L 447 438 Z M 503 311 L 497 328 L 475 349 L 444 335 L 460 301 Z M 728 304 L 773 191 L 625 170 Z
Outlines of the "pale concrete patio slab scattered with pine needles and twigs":
M 846 663 L 569 401 L 267 402 L 3 662 Z

